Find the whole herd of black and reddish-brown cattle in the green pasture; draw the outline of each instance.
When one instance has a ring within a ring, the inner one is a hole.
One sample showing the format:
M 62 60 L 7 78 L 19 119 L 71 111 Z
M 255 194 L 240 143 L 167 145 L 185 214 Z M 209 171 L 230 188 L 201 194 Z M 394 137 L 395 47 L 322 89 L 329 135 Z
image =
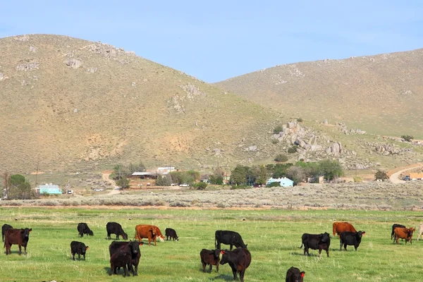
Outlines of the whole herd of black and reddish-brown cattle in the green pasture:
M 93 236 L 94 233 L 88 227 L 87 223 L 78 223 L 78 233 L 82 238 L 84 235 Z M 401 224 L 393 224 L 391 240 L 398 244 L 398 240 L 405 240 L 405 244 L 410 242 L 412 244 L 412 235 L 415 228 L 406 228 Z M 26 247 L 28 240 L 30 239 L 31 228 L 16 229 L 8 224 L 4 224 L 1 227 L 1 238 L 4 241 L 4 247 L 6 247 L 6 255 L 11 255 L 11 245 L 18 245 L 19 255 L 21 255 L 21 247 L 24 247 L 24 254 L 26 255 Z M 123 231 L 121 224 L 116 222 L 109 222 L 106 224 L 107 238 L 111 239 L 111 234 L 116 235 L 116 240 L 119 240 L 119 236 L 122 236 L 123 240 L 128 240 L 128 234 Z M 419 225 L 419 233 L 417 240 L 423 233 L 423 223 Z M 364 231 L 357 231 L 354 226 L 348 222 L 333 222 L 333 237 L 336 235 L 340 239 L 340 250 L 344 247 L 347 250 L 347 245 L 353 245 L 355 250 L 360 246 L 362 235 Z M 176 231 L 172 228 L 166 228 L 165 231 L 166 240 L 179 240 Z M 109 245 L 110 254 L 110 273 L 117 274 L 118 269 L 123 268 L 123 276 L 130 276 L 130 272 L 133 276 L 137 276 L 138 264 L 140 263 L 140 245 L 142 245 L 142 238 L 147 238 L 148 245 L 159 238 L 162 242 L 164 241 L 164 235 L 161 234 L 160 229 L 153 225 L 137 225 L 135 226 L 135 239 L 130 241 L 113 241 Z M 219 264 L 229 264 L 233 272 L 233 279 L 237 278 L 237 274 L 240 276 L 240 282 L 244 281 L 245 269 L 250 266 L 251 254 L 247 250 L 247 245 L 244 243 L 241 235 L 235 231 L 216 231 L 214 234 L 214 245 L 215 250 L 202 249 L 200 252 L 200 258 L 202 263 L 202 271 L 206 271 L 206 266 L 209 265 L 209 271 L 212 271 L 212 266 L 216 266 L 216 272 L 219 272 Z M 309 255 L 309 249 L 319 250 L 319 257 L 321 257 L 321 251 L 326 251 L 327 257 L 329 257 L 329 246 L 331 245 L 331 237 L 329 233 L 321 234 L 302 234 L 302 243 L 300 248 L 304 246 L 304 255 Z M 229 245 L 230 250 L 221 250 L 221 244 Z M 235 250 L 232 250 L 235 247 Z M 88 250 L 82 242 L 72 241 L 71 242 L 71 254 L 72 259 L 75 260 L 75 255 L 78 255 L 78 259 L 82 255 L 85 260 L 85 253 Z M 300 282 L 303 281 L 305 271 L 292 266 L 286 272 L 286 282 Z

